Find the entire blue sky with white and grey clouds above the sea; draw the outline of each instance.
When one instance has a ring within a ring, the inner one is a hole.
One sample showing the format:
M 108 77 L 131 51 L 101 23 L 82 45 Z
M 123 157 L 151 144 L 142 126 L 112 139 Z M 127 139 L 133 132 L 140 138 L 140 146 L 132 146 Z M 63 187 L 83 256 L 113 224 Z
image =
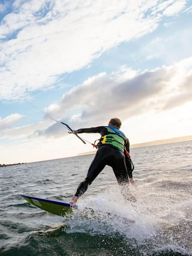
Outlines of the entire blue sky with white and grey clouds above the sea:
M 191 24 L 192 0 L 0 0 L 0 163 L 93 150 L 47 115 L 119 117 L 131 144 L 192 135 Z

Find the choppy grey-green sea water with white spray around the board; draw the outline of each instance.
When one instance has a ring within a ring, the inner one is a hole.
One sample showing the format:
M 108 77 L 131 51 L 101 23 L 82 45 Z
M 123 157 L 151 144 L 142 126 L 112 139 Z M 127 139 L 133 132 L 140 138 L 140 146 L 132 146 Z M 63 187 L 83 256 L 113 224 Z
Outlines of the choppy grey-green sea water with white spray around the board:
M 131 156 L 137 202 L 124 202 L 106 167 L 79 210 L 64 217 L 20 194 L 68 202 L 94 155 L 0 168 L 0 255 L 192 255 L 192 141 L 135 148 Z

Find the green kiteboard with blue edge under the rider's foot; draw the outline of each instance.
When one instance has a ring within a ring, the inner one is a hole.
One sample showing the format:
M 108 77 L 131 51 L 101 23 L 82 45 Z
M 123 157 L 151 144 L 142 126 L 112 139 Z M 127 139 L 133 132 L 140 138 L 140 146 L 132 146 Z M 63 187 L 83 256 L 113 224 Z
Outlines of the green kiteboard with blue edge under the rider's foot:
M 64 202 L 53 201 L 49 199 L 36 198 L 29 195 L 21 195 L 30 204 L 38 207 L 44 211 L 51 212 L 53 214 L 64 216 L 67 213 L 73 212 L 73 209 L 77 209 L 76 204 L 68 204 Z

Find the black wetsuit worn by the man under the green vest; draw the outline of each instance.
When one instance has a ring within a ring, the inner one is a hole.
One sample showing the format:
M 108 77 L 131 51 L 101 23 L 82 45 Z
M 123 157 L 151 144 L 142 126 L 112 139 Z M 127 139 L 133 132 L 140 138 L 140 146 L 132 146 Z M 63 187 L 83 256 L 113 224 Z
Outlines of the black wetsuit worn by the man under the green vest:
M 105 134 L 109 134 L 108 127 L 110 126 L 79 129 L 76 131 L 76 133 L 100 133 L 101 136 L 105 136 Z M 120 135 L 123 134 L 119 130 L 117 132 Z M 127 137 L 124 137 L 124 142 L 124 146 L 129 152 L 129 140 Z M 127 155 L 113 145 L 99 144 L 99 149 L 97 150 L 96 155 L 89 167 L 87 176 L 79 184 L 75 196 L 79 198 L 81 195 L 83 195 L 88 186 L 93 182 L 93 180 L 97 177 L 97 175 L 99 175 L 106 165 L 113 168 L 113 172 L 119 185 L 129 183 L 129 177 L 132 177 L 132 170 Z

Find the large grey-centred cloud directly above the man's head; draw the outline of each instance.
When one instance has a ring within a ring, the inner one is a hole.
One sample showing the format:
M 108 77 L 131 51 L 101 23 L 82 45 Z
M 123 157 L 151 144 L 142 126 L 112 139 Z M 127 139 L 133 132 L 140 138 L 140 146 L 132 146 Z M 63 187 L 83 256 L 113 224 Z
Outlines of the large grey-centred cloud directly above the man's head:
M 64 93 L 61 102 L 46 111 L 76 129 L 107 124 L 113 116 L 125 120 L 150 111 L 160 113 L 190 101 L 192 57 L 141 74 L 125 67 L 109 75 L 100 73 Z M 35 135 L 61 137 L 64 127 L 56 123 Z

